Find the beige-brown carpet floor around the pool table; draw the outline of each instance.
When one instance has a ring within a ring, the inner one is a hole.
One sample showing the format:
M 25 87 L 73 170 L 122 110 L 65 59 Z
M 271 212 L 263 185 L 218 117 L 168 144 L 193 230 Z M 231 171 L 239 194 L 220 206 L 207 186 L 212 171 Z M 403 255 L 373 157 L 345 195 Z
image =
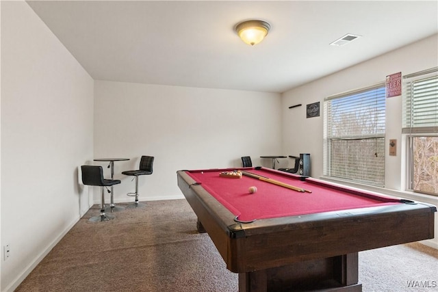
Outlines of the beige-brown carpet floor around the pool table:
M 146 204 L 98 224 L 90 209 L 16 291 L 237 291 L 185 200 Z M 363 291 L 438 291 L 437 252 L 419 243 L 360 252 Z

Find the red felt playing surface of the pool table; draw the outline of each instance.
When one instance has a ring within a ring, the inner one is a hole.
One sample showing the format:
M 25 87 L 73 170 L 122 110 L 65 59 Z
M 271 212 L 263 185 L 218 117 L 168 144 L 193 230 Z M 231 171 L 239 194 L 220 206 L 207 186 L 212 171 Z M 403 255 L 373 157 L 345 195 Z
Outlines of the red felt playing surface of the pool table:
M 188 174 L 242 221 L 400 204 L 396 198 L 346 187 L 340 191 L 341 188 L 333 184 L 313 178 L 301 181 L 300 176 L 268 168 L 243 170 L 307 189 L 311 193 L 295 191 L 245 175 L 242 178 L 220 176 L 221 172 L 233 170 L 192 170 Z M 253 194 L 248 191 L 251 186 L 257 187 Z

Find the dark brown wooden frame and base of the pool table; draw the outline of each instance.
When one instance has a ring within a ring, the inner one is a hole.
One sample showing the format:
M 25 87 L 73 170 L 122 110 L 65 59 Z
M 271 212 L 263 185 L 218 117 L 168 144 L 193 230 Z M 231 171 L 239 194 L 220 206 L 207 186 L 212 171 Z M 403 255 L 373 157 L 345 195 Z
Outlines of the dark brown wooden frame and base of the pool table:
M 362 291 L 358 252 L 434 237 L 436 207 L 395 204 L 242 224 L 184 170 L 179 188 L 239 291 Z

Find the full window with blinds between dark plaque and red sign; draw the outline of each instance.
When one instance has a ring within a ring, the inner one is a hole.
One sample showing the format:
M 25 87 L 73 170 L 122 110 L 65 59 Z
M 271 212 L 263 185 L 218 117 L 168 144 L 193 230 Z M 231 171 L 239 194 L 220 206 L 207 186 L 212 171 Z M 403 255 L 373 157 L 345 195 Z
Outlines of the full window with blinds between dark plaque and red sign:
M 384 83 L 325 98 L 324 175 L 384 185 Z

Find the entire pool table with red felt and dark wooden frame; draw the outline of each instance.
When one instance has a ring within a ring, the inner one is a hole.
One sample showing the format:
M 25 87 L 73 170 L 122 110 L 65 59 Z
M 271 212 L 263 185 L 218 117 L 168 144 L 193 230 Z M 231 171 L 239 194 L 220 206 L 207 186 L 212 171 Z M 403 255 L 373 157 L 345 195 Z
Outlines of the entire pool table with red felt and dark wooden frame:
M 177 181 L 241 292 L 362 291 L 358 252 L 434 237 L 433 205 L 270 168 L 179 170 Z

